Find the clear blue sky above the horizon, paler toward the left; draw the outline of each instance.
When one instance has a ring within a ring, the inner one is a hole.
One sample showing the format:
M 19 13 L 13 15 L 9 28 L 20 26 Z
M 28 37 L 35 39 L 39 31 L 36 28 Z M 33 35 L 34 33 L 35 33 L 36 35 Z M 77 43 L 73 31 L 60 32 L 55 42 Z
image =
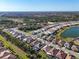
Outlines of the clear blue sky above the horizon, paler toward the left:
M 0 0 L 0 11 L 79 11 L 79 0 Z

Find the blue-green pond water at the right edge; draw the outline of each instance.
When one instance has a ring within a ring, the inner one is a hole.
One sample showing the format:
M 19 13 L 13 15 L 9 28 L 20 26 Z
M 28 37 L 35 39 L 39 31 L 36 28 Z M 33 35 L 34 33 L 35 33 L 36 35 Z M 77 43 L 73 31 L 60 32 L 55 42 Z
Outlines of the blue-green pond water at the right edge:
M 70 27 L 61 33 L 61 37 L 64 38 L 76 38 L 79 37 L 79 26 Z

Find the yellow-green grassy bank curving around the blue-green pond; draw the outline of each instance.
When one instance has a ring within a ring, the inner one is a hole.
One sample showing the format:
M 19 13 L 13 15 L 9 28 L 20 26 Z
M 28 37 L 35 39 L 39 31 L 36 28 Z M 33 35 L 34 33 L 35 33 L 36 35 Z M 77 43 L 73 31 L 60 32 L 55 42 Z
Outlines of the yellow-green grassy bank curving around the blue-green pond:
M 59 29 L 57 31 L 57 34 L 56 34 L 56 39 L 62 39 L 63 41 L 66 41 L 66 42 L 71 42 L 75 37 L 62 37 L 61 34 L 65 31 L 65 30 L 68 30 L 70 29 L 71 27 L 78 27 L 79 25 L 74 25 L 74 26 L 66 26 L 66 27 L 63 27 L 61 29 Z

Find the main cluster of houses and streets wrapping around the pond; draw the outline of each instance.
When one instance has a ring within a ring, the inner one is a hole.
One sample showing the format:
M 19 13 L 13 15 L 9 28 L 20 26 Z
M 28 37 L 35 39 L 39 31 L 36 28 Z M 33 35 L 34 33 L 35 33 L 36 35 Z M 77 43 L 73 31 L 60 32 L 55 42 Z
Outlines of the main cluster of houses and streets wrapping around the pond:
M 55 56 L 59 59 L 75 59 L 75 56 L 79 56 L 77 53 L 79 52 L 79 46 L 74 45 L 72 42 L 56 40 L 55 32 L 63 27 L 72 26 L 78 23 L 79 22 L 73 21 L 49 25 L 33 31 L 31 36 L 26 35 L 17 28 L 4 29 L 3 31 L 10 33 L 13 37 L 22 42 L 27 42 L 35 51 L 42 49 L 48 55 Z

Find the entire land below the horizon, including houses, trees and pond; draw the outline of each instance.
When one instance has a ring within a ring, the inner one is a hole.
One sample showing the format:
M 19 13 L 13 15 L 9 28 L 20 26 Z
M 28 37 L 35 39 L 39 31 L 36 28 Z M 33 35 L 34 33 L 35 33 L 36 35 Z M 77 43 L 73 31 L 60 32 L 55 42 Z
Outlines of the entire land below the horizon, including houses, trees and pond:
M 0 59 L 79 59 L 77 12 L 4 12 Z

